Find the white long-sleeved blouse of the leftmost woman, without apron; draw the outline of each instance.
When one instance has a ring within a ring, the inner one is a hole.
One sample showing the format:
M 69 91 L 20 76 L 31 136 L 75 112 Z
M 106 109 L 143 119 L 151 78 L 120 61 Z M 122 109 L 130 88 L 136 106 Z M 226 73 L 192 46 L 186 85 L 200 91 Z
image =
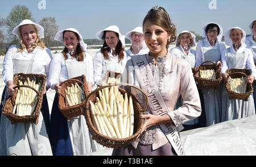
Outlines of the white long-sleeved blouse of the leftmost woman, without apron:
M 44 74 L 48 81 L 49 67 L 52 60 L 51 51 L 48 48 L 42 50 L 40 47 L 36 47 L 33 52 L 28 53 L 27 49 L 23 52 L 17 52 L 18 49 L 19 45 L 11 45 L 5 55 L 5 59 L 3 60 L 3 80 L 5 83 L 7 81 L 13 81 L 13 57 L 17 60 L 31 60 L 33 59 L 32 57 L 35 52 L 37 56 L 34 58 L 34 62 L 32 64 L 32 73 Z

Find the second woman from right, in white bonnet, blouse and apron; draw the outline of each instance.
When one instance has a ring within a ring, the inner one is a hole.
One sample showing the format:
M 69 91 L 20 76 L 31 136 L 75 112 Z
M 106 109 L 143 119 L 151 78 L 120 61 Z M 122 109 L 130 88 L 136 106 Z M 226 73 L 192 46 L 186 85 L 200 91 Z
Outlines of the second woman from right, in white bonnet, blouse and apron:
M 225 43 L 230 46 L 222 52 L 222 69 L 223 80 L 228 82 L 229 75 L 226 73 L 230 68 L 250 69 L 251 76 L 246 78 L 249 83 L 254 82 L 256 69 L 253 61 L 253 53 L 245 45 L 246 33 L 240 27 L 230 28 L 225 33 Z M 245 118 L 255 114 L 253 95 L 251 94 L 248 101 L 239 99 L 230 100 L 226 89 L 222 91 L 222 116 L 221 121 Z

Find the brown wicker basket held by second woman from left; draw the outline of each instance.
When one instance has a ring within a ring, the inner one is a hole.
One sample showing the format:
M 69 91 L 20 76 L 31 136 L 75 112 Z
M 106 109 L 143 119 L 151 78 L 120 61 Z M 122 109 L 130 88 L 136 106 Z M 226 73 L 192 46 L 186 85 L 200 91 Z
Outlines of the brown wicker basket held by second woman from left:
M 76 82 L 80 87 L 82 87 L 82 89 L 84 90 L 84 93 L 85 93 L 85 97 L 86 97 L 89 94 L 89 91 L 88 91 L 86 78 L 84 75 L 75 77 L 75 78 L 71 78 L 69 80 L 66 80 L 66 81 L 60 83 L 61 90 L 58 95 L 58 97 L 59 97 L 58 105 L 59 105 L 60 112 L 68 120 L 72 120 L 73 117 L 82 115 L 82 112 L 84 112 L 84 109 L 85 109 L 84 108 L 85 101 L 83 101 L 77 105 L 66 107 L 65 89 L 67 89 L 67 87 L 72 86 L 72 84 L 75 85 Z

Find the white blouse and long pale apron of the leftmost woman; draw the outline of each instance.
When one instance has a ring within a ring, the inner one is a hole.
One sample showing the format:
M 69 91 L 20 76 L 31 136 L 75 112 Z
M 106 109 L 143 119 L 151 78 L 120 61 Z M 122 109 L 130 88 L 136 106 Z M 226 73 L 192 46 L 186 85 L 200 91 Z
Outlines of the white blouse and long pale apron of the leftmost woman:
M 17 52 L 19 45 L 11 45 L 3 61 L 3 79 L 13 81 L 15 73 L 34 73 L 49 76 L 49 65 L 52 59 L 49 49 L 36 47 L 33 52 Z M 3 105 L 7 98 L 7 91 Z M 47 104 L 48 105 L 48 104 Z M 44 106 L 43 106 L 44 108 Z M 43 112 L 42 108 L 42 112 Z M 47 107 L 48 108 L 48 107 Z M 44 113 L 40 112 L 39 123 L 16 123 L 2 115 L 0 122 L 0 155 L 42 156 L 52 155 Z M 47 112 L 47 111 L 46 111 Z M 48 114 L 49 116 L 49 111 Z

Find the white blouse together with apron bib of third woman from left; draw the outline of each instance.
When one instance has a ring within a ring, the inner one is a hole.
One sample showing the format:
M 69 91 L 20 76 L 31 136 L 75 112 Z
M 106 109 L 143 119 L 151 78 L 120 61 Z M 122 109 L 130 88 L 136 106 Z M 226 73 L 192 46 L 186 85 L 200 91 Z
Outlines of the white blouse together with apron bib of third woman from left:
M 126 52 L 123 51 L 123 59 L 118 62 L 118 55 L 113 56 L 112 52 L 108 52 L 109 60 L 106 60 L 101 53 L 101 51 L 98 51 L 96 55 L 93 57 L 93 68 L 94 68 L 94 81 L 97 85 L 100 85 L 100 80 L 105 80 L 105 74 L 106 72 L 112 71 L 116 73 L 123 73 L 123 70 L 125 69 L 125 65 L 127 62 L 127 56 Z

